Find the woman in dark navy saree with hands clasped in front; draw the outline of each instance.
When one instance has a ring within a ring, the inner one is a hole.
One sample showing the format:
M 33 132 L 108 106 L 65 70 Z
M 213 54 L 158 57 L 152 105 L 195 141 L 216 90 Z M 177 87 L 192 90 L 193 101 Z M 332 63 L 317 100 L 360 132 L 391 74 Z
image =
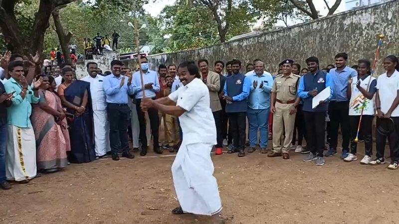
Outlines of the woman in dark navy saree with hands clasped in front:
M 71 68 L 62 69 L 64 82 L 58 87 L 58 96 L 69 125 L 71 163 L 87 163 L 96 159 L 93 142 L 93 112 L 90 104 L 90 83 L 74 80 Z

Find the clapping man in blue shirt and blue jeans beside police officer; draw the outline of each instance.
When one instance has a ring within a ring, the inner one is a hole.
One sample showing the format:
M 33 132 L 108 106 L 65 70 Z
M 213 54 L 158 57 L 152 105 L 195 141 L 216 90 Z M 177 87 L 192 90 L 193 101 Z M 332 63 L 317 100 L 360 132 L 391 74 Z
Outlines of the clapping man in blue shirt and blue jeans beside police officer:
M 249 123 L 249 149 L 254 152 L 258 141 L 258 129 L 260 132 L 260 152 L 267 152 L 268 120 L 270 113 L 270 91 L 273 87 L 273 77 L 264 72 L 265 66 L 262 61 L 255 63 L 255 70 L 248 74 L 245 79 L 251 83 L 248 97 L 248 109 L 246 115 Z

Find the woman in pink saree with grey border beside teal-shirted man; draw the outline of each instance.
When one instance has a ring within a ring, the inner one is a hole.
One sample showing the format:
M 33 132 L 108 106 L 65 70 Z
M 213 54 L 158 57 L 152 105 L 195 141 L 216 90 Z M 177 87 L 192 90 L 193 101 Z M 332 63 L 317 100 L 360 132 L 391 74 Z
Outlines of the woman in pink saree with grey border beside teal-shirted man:
M 36 139 L 37 169 L 49 173 L 67 165 L 66 150 L 69 143 L 67 144 L 58 124 L 59 120 L 65 118 L 65 114 L 59 108 L 56 96 L 47 90 L 48 77 L 39 75 L 36 80 L 40 77 L 42 77 L 39 87 L 40 100 L 39 104 L 33 106 L 31 121 Z

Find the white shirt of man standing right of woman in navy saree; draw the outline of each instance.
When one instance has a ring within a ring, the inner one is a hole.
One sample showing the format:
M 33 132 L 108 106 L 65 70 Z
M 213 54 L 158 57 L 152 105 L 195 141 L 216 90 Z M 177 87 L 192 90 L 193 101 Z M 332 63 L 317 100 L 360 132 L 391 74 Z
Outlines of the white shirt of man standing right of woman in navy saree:
M 103 88 L 104 76 L 97 75 L 95 78 L 87 75 L 81 79 L 90 83 L 91 104 L 94 111 L 106 110 L 105 91 Z

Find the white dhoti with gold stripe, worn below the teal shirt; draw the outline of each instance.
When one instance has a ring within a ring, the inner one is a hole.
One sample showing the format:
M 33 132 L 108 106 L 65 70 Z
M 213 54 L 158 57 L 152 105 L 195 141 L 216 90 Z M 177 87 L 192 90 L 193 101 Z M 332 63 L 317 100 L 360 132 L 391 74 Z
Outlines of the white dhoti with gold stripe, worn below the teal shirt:
M 36 176 L 36 140 L 32 127 L 8 124 L 5 153 L 7 180 L 22 181 Z

